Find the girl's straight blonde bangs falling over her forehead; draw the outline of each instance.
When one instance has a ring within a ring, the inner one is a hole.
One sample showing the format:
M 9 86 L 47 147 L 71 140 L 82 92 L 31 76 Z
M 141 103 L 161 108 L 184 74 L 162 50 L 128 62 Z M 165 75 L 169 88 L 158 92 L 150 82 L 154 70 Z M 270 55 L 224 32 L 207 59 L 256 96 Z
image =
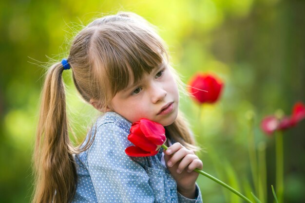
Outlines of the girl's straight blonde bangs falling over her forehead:
M 121 22 L 106 23 L 98 29 L 95 27 L 91 59 L 95 80 L 100 82 L 100 98 L 106 97 L 106 103 L 130 83 L 137 83 L 144 74 L 150 74 L 164 60 L 167 61 L 166 48 L 158 36 L 139 32 L 134 27 Z M 112 32 L 107 31 L 110 28 Z

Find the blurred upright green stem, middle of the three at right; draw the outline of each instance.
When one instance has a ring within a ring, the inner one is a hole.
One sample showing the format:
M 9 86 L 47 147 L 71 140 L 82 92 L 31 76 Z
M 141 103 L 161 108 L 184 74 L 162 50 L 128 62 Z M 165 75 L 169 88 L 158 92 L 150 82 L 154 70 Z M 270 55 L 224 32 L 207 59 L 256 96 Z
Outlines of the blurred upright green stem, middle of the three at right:
M 266 143 L 258 145 L 258 166 L 259 166 L 259 193 L 258 197 L 262 203 L 267 203 L 267 166 L 266 166 Z

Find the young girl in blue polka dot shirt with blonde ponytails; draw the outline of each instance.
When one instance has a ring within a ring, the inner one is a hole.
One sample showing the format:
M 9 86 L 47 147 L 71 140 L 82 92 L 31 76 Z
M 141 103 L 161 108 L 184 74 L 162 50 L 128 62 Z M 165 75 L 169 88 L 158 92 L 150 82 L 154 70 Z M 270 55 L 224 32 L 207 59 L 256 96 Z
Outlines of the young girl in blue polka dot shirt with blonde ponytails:
M 102 115 L 84 143 L 69 140 L 62 72 Z M 98 18 L 75 37 L 67 59 L 48 71 L 35 149 L 34 203 L 200 203 L 195 181 L 202 162 L 178 113 L 179 78 L 162 39 L 133 13 Z M 129 157 L 133 122 L 166 129 L 168 146 L 151 157 Z M 183 147 L 185 146 L 185 147 Z

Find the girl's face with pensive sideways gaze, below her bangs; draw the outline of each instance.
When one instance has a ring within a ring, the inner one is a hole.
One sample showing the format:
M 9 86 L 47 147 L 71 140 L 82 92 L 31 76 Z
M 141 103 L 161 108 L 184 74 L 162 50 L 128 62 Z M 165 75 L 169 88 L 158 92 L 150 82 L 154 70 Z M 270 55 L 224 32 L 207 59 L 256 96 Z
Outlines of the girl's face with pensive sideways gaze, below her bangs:
M 147 118 L 163 126 L 171 125 L 178 114 L 179 92 L 167 64 L 144 74 L 136 85 L 115 94 L 108 106 L 131 123 Z

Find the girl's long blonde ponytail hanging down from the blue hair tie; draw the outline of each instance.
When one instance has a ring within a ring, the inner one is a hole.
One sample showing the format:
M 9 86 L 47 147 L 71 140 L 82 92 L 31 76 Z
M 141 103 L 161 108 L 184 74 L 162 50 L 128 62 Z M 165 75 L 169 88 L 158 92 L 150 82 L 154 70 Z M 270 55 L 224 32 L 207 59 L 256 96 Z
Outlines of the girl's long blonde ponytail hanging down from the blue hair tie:
M 33 203 L 69 203 L 76 191 L 75 150 L 68 133 L 63 70 L 61 63 L 49 69 L 41 94 Z

